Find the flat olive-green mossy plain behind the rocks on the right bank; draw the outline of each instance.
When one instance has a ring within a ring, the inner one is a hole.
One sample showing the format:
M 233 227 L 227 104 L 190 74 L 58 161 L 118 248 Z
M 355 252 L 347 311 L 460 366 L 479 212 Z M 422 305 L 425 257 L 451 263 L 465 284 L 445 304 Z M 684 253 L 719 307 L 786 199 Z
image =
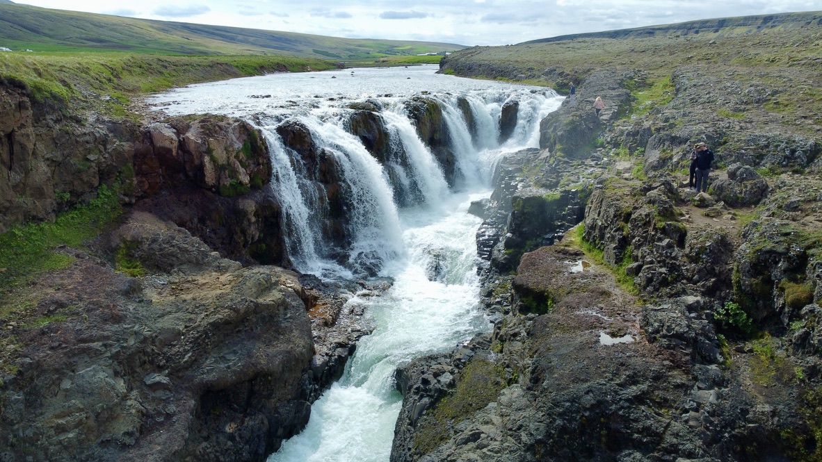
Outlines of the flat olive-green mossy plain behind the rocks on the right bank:
M 443 71 L 517 81 L 543 80 L 561 93 L 568 82 L 580 85 L 593 71 L 613 71 L 615 75 L 624 71 L 625 75 L 633 75 L 622 82 L 635 98 L 628 117 L 649 113 L 656 117 L 652 111 L 670 107 L 677 96 L 675 84 L 685 83 L 681 79 L 711 75 L 728 82 L 729 87 L 738 83 L 743 89 L 764 89 L 762 94 L 768 95 L 757 101 L 741 98 L 737 101 L 739 107 L 733 110 L 722 110 L 716 103 L 709 107 L 716 116 L 713 120 L 745 117 L 746 121 L 767 126 L 774 124 L 768 112 L 777 112 L 784 116 L 778 119 L 780 130 L 790 126 L 815 138 L 822 125 L 822 87 L 817 71 L 822 55 L 822 29 L 816 25 L 819 15 L 787 16 L 791 19 L 775 27 L 740 25 L 744 21 L 728 18 L 723 20 L 726 24 L 700 30 L 700 34 L 671 25 L 640 28 L 620 38 L 616 38 L 618 34 L 582 34 L 547 42 L 467 48 L 446 57 Z M 585 91 L 584 85 L 580 91 Z M 670 130 L 686 123 L 676 117 L 682 106 L 672 108 L 664 121 L 653 121 L 651 125 L 661 124 L 656 130 Z

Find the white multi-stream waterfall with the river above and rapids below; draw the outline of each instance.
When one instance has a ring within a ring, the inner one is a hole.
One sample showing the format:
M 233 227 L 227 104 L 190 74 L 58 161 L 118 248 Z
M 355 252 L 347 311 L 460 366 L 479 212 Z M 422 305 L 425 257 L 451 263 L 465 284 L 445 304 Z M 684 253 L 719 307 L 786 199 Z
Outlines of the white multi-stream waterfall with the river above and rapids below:
M 277 120 L 296 117 L 311 130 L 313 142 L 344 170 L 353 196 L 346 226 L 353 235 L 345 269 L 339 260 L 324 260 L 330 245 L 321 239 L 318 198 L 312 195 L 319 186 L 297 175 L 302 160 L 283 145 L 273 122 L 257 122 L 275 162 L 272 187 L 284 210 L 283 232 L 291 260 L 300 271 L 321 277 L 350 277 L 348 271 L 357 265 L 379 263 L 375 268 L 380 274 L 395 281 L 379 297 L 354 295 L 349 300 L 366 308 L 374 330 L 358 343 L 344 376 L 312 405 L 307 428 L 285 441 L 270 456 L 272 462 L 386 462 L 401 404 L 393 386 L 395 368 L 490 329 L 477 306 L 474 234 L 481 220 L 467 210 L 472 200 L 490 195 L 492 162 L 503 153 L 536 146 L 539 120 L 559 107 L 562 98 L 550 90 L 435 75 L 435 70 L 436 66 L 363 69 L 341 73 L 346 78 L 335 80 L 328 80 L 327 73 L 269 75 L 223 84 L 223 98 L 215 98 L 210 84 L 204 84 L 156 99 L 173 113 L 213 112 L 257 121 L 261 114 L 263 119 L 275 114 Z M 325 77 L 325 84 L 312 80 L 316 76 Z M 261 91 L 284 98 L 256 96 Z M 456 174 L 463 180 L 459 193 L 448 190 L 443 168 L 404 113 L 404 99 L 423 91 L 443 110 L 452 143 L 448 148 L 455 153 Z M 473 127 L 467 126 L 453 95 L 468 100 Z M 380 117 L 390 137 L 391 155 L 404 156 L 401 161 L 380 165 L 357 137 L 344 130 L 344 113 L 351 111 L 346 104 L 363 98 L 384 108 Z M 499 146 L 501 107 L 509 98 L 520 103 L 518 123 L 510 140 Z M 399 184 L 390 185 L 388 169 Z M 417 202 L 398 208 L 392 197 L 396 190 L 415 192 Z

